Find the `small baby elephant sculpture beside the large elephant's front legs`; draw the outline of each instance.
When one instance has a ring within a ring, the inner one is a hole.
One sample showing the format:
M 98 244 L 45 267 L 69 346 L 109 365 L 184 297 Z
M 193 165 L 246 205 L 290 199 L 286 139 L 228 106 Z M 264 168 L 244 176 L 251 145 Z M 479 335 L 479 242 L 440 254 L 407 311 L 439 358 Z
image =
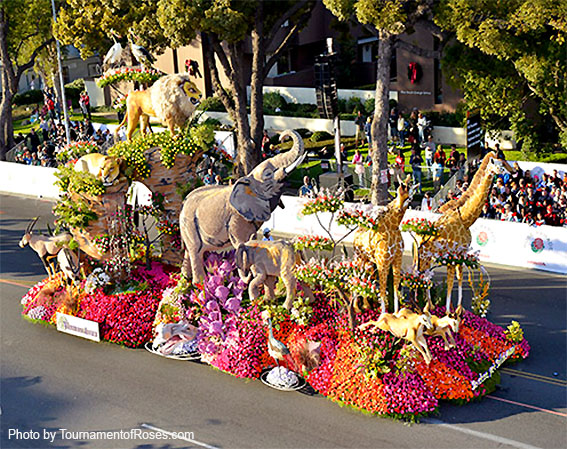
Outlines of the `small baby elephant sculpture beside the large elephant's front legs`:
M 250 240 L 241 243 L 236 250 L 236 266 L 245 282 L 249 282 L 250 299 L 255 301 L 260 295 L 260 286 L 266 289 L 266 299 L 275 298 L 274 289 L 278 277 L 282 278 L 287 296 L 284 302 L 286 309 L 291 309 L 295 299 L 297 279 L 294 274 L 295 266 L 301 263 L 301 256 L 291 243 L 283 240 L 257 241 Z M 252 278 L 252 281 L 250 281 Z M 315 298 L 308 285 L 300 283 L 309 302 Z

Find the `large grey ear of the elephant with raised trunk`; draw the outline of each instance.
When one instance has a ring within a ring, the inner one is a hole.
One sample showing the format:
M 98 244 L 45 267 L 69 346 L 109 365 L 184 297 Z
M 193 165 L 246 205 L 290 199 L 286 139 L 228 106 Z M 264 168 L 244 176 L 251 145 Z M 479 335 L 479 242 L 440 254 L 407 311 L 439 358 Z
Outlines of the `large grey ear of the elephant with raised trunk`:
M 240 178 L 230 194 L 230 205 L 248 221 L 267 221 L 272 215 L 272 208 L 264 190 L 262 183 L 254 178 Z

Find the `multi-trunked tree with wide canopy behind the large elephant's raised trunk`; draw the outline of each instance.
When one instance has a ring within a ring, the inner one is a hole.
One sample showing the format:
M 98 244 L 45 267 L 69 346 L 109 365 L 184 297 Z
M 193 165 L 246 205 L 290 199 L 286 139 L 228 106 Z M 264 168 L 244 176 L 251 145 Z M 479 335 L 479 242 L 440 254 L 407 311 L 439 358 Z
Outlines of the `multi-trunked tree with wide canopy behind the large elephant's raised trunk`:
M 83 57 L 103 50 L 101 42 L 108 48 L 107 33 L 111 29 L 125 35 L 131 28 L 142 37 L 140 43 L 153 51 L 178 48 L 200 38 L 215 95 L 236 124 L 237 171 L 245 174 L 260 161 L 266 75 L 307 22 L 314 6 L 312 0 L 68 0 L 56 33 L 62 41 L 81 48 Z M 250 80 L 245 70 L 248 42 L 252 45 Z M 228 79 L 227 86 L 221 84 L 221 70 Z

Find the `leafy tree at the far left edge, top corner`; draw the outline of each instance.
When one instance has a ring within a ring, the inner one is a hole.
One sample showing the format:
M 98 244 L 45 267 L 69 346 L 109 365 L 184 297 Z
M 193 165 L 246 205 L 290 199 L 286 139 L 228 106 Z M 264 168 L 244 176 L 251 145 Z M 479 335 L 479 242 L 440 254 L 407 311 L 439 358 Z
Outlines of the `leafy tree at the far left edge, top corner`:
M 0 160 L 14 145 L 12 99 L 24 72 L 54 42 L 50 0 L 3 0 L 0 2 Z

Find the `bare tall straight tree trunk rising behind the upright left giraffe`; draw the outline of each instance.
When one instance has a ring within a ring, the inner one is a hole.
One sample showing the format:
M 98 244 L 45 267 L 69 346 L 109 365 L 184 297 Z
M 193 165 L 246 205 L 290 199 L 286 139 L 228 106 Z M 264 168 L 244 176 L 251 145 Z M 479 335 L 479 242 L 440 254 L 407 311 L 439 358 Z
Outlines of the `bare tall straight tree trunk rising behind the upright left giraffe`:
M 376 70 L 374 119 L 372 121 L 372 187 L 374 205 L 388 203 L 388 115 L 390 97 L 390 60 L 394 38 L 380 33 Z

